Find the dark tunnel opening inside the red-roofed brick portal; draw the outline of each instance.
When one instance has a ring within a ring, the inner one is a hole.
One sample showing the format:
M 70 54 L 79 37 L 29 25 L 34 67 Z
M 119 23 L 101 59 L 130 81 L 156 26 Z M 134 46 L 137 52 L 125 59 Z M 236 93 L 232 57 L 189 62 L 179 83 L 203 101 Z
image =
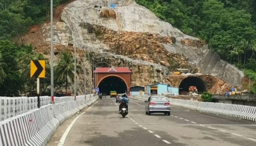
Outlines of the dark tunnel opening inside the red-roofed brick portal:
M 124 80 L 117 76 L 109 76 L 100 81 L 98 88 L 100 93 L 106 93 L 109 95 L 110 91 L 116 91 L 117 94 L 127 92 L 127 86 Z

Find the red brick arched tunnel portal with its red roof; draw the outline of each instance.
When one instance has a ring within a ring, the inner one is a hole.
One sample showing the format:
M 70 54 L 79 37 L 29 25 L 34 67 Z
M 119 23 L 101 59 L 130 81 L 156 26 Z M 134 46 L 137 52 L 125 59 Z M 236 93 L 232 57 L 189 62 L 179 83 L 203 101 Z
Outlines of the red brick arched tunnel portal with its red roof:
M 108 77 L 117 77 L 124 81 L 126 91 L 129 93 L 131 86 L 131 71 L 128 67 L 102 67 L 93 71 L 94 87 L 98 87 Z

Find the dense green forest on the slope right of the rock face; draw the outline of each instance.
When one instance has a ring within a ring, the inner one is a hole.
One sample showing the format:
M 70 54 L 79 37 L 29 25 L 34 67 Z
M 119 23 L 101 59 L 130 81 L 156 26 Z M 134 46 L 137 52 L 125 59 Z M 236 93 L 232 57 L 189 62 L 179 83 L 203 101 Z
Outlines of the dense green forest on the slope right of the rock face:
M 205 40 L 222 59 L 256 72 L 255 0 L 135 1 L 182 32 Z

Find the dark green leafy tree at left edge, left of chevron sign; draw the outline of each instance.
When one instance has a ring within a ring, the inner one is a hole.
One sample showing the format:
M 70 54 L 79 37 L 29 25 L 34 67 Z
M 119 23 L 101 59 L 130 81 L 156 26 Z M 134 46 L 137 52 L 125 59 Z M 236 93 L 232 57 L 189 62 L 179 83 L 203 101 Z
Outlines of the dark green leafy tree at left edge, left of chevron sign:
M 21 88 L 19 68 L 17 63 L 17 47 L 10 41 L 0 41 L 0 52 L 2 62 L 6 64 L 3 67 L 6 73 L 3 85 L 0 87 L 0 96 L 18 96 Z

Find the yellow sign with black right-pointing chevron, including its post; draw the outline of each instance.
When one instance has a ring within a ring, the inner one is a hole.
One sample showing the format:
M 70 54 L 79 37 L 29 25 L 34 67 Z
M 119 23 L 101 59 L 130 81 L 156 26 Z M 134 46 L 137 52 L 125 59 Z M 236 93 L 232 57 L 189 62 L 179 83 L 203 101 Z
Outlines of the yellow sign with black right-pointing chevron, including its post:
M 30 78 L 36 77 L 37 107 L 40 108 L 40 78 L 45 78 L 45 60 L 30 61 Z

